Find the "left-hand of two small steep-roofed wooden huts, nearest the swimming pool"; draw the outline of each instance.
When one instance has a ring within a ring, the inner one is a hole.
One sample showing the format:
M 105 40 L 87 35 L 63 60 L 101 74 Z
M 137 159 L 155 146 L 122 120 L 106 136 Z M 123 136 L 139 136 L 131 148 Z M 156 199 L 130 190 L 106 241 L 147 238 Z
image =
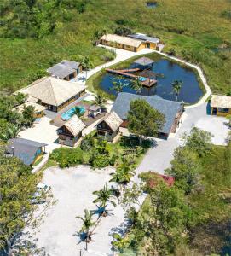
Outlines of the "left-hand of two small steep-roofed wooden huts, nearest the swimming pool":
M 58 129 L 59 143 L 69 147 L 74 147 L 78 139 L 82 137 L 84 123 L 75 114 L 61 128 Z

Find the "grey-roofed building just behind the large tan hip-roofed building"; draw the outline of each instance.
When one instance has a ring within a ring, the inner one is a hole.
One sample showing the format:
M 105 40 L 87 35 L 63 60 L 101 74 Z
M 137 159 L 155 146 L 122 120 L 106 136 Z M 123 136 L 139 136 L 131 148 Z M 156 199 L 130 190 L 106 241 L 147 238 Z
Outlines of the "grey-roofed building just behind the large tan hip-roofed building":
M 64 79 L 69 81 L 77 76 L 78 73 L 81 73 L 82 66 L 79 62 L 76 61 L 61 61 L 61 63 L 55 64 L 52 67 L 49 67 L 47 72 L 56 79 Z

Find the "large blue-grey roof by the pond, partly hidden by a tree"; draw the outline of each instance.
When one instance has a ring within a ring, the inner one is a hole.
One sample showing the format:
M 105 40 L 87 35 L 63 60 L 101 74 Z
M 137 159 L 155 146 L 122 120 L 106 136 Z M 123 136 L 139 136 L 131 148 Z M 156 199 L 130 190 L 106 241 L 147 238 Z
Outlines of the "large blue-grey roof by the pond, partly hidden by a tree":
M 159 96 L 141 96 L 121 92 L 118 94 L 116 101 L 113 104 L 113 111 L 117 113 L 121 119 L 127 119 L 127 113 L 130 110 L 130 102 L 136 99 L 147 101 L 153 108 L 159 110 L 160 113 L 165 114 L 165 125 L 159 132 L 169 134 L 171 126 L 176 118 L 176 114 L 182 110 L 182 103 L 168 101 Z

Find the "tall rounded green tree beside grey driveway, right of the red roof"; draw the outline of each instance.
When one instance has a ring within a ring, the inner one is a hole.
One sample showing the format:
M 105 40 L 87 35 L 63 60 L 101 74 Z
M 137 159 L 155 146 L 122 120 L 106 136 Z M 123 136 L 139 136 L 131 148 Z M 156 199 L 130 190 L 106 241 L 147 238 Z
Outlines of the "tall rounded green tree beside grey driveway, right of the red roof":
M 176 148 L 171 168 L 165 172 L 175 177 L 175 185 L 187 195 L 199 185 L 201 165 L 197 154 L 188 148 Z

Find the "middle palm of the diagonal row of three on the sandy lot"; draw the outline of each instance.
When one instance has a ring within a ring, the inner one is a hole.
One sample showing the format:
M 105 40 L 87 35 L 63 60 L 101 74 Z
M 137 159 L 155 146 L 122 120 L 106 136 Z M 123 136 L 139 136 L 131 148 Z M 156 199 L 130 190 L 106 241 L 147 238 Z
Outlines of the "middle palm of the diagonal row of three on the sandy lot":
M 104 185 L 103 189 L 99 191 L 94 191 L 92 194 L 97 195 L 97 198 L 93 202 L 99 202 L 101 204 L 101 216 L 106 217 L 108 214 L 106 210 L 107 202 L 111 203 L 113 207 L 116 207 L 116 203 L 113 201 L 113 190 L 107 187 L 107 183 Z

